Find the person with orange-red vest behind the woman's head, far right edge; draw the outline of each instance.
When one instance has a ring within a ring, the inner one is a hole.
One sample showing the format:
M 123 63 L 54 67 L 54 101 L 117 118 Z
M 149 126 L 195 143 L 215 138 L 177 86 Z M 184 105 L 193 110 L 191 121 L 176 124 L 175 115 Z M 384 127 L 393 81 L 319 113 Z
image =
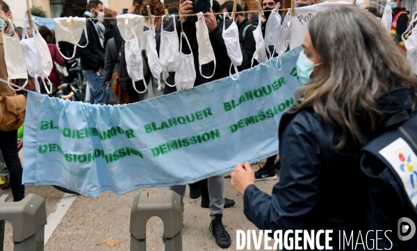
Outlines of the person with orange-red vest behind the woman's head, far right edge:
M 402 0 L 393 0 L 391 1 L 393 23 L 391 25 L 391 37 L 393 37 L 395 43 L 400 46 L 402 51 L 407 51 L 405 49 L 404 41 L 402 41 L 401 36 L 407 30 L 409 17 L 407 10 L 402 8 Z M 407 38 L 407 37 L 406 37 Z

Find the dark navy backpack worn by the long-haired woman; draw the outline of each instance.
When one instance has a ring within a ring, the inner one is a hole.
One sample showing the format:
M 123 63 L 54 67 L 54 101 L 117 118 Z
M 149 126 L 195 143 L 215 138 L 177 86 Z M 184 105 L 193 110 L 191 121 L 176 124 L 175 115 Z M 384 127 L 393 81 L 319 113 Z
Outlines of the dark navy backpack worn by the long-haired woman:
M 379 238 L 384 236 L 379 248 L 417 250 L 417 236 L 407 240 L 415 234 L 417 223 L 417 109 L 393 115 L 385 126 L 381 135 L 361 148 L 359 156 L 369 198 L 365 231 L 373 230 L 367 239 L 376 237 L 375 230 L 384 230 L 387 238 L 379 232 Z M 402 222 L 411 230 L 405 231 Z

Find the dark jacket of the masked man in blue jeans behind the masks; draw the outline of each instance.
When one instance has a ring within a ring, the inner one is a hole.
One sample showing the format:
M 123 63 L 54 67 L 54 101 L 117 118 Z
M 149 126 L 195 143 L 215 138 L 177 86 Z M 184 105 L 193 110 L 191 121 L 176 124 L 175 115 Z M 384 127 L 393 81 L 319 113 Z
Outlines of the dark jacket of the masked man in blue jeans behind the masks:
M 83 15 L 88 18 L 88 16 Z M 98 21 L 97 19 L 95 21 Z M 88 45 L 85 48 L 77 48 L 76 53 L 81 60 L 81 67 L 83 70 L 98 71 L 100 67 L 104 67 L 104 48 L 100 44 L 99 34 L 97 33 L 93 21 L 87 19 L 85 24 L 88 35 Z M 81 40 L 79 41 L 81 46 L 87 44 L 87 39 L 83 33 Z

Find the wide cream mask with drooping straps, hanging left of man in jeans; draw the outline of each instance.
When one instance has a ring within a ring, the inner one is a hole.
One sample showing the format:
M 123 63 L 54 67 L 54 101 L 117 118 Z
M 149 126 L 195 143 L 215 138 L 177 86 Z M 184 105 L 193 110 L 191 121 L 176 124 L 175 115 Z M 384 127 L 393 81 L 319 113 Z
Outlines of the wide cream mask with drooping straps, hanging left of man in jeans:
M 58 52 L 60 55 L 63 56 L 66 60 L 70 60 L 75 57 L 76 53 L 76 46 L 81 48 L 85 48 L 88 46 L 88 35 L 87 35 L 87 28 L 85 27 L 86 21 L 85 17 L 58 17 L 54 18 L 54 27 L 55 27 L 55 38 L 56 38 L 56 46 L 58 47 Z M 87 40 L 87 44 L 81 46 L 78 42 L 81 39 L 81 35 L 85 35 L 85 39 Z M 58 42 L 69 42 L 70 44 L 74 44 L 74 53 L 72 53 L 71 58 L 67 58 L 63 53 L 60 52 Z

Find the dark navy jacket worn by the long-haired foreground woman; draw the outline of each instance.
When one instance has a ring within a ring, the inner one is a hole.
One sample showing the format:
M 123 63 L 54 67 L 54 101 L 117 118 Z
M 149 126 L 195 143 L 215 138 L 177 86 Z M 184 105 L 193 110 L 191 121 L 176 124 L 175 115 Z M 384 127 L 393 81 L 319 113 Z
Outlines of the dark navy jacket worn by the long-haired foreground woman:
M 398 89 L 385 94 L 385 98 L 377 98 L 384 121 L 395 113 L 411 110 L 411 89 Z M 389 105 L 386 96 L 390 98 Z M 363 136 L 369 141 L 376 135 L 365 132 Z M 254 185 L 247 187 L 245 216 L 260 230 L 272 232 L 333 230 L 334 250 L 338 250 L 339 230 L 345 230 L 347 235 L 352 230 L 366 234 L 363 230 L 370 218 L 366 215 L 368 194 L 359 168 L 360 149 L 350 143 L 341 150 L 334 149 L 339 138 L 338 129 L 326 123 L 312 107 L 283 114 L 279 123 L 279 182 L 273 187 L 272 196 Z M 396 236 L 396 229 L 391 234 Z M 357 236 L 358 232 L 354 241 Z M 379 238 L 382 236 L 379 232 Z M 320 237 L 323 244 L 324 234 Z

